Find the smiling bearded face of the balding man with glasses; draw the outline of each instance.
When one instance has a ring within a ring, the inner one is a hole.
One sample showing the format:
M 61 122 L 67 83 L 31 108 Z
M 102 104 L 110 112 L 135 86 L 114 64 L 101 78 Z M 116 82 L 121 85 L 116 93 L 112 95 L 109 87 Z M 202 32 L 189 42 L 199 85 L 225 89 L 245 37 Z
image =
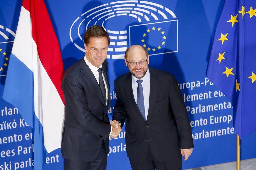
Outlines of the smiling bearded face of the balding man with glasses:
M 137 79 L 143 78 L 143 76 L 146 74 L 148 70 L 148 64 L 149 64 L 149 56 L 146 56 L 145 51 L 143 50 L 143 47 L 139 45 L 131 46 L 128 51 L 127 57 L 124 60 L 129 71 Z M 131 66 L 129 64 L 130 62 L 140 62 L 145 60 L 147 60 L 147 62 L 144 65 L 140 65 L 139 63 L 136 63 L 135 66 Z

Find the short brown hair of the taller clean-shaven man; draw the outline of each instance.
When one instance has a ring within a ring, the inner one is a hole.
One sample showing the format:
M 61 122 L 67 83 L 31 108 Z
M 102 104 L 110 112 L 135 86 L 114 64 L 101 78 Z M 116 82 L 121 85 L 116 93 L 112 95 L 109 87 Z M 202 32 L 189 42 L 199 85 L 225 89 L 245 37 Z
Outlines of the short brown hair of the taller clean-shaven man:
M 93 25 L 88 28 L 84 33 L 84 43 L 88 45 L 90 43 L 91 37 L 106 37 L 108 41 L 108 45 L 110 44 L 110 38 L 108 33 L 104 30 L 103 27 L 99 25 Z

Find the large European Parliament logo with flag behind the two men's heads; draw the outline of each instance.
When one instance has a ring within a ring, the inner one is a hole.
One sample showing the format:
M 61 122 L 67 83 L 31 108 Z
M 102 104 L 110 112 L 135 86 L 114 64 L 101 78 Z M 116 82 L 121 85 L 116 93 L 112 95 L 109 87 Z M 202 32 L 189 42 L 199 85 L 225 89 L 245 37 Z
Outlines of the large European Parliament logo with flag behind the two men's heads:
M 77 49 L 86 52 L 84 32 L 92 25 L 100 25 L 110 36 L 109 59 L 123 59 L 125 50 L 134 44 L 144 46 L 149 55 L 172 53 L 178 51 L 176 18 L 169 8 L 161 4 L 115 1 L 88 7 L 71 25 L 69 37 Z

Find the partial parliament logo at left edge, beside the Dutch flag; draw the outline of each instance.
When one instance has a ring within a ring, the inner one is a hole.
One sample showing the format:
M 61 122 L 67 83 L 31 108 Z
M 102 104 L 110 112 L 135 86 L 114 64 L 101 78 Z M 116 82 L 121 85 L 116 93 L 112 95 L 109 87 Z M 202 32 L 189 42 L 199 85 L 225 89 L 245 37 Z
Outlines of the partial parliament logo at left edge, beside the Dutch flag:
M 0 77 L 6 76 L 15 33 L 0 25 Z

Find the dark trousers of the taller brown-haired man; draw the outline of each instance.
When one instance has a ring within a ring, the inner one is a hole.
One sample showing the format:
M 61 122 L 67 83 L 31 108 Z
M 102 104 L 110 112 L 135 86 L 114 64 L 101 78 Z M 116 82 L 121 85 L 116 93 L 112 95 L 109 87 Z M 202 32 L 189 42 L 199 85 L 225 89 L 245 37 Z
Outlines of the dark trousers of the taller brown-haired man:
M 92 162 L 77 162 L 69 159 L 64 160 L 64 170 L 106 170 L 107 152 L 104 140 L 99 151 L 99 155 Z

